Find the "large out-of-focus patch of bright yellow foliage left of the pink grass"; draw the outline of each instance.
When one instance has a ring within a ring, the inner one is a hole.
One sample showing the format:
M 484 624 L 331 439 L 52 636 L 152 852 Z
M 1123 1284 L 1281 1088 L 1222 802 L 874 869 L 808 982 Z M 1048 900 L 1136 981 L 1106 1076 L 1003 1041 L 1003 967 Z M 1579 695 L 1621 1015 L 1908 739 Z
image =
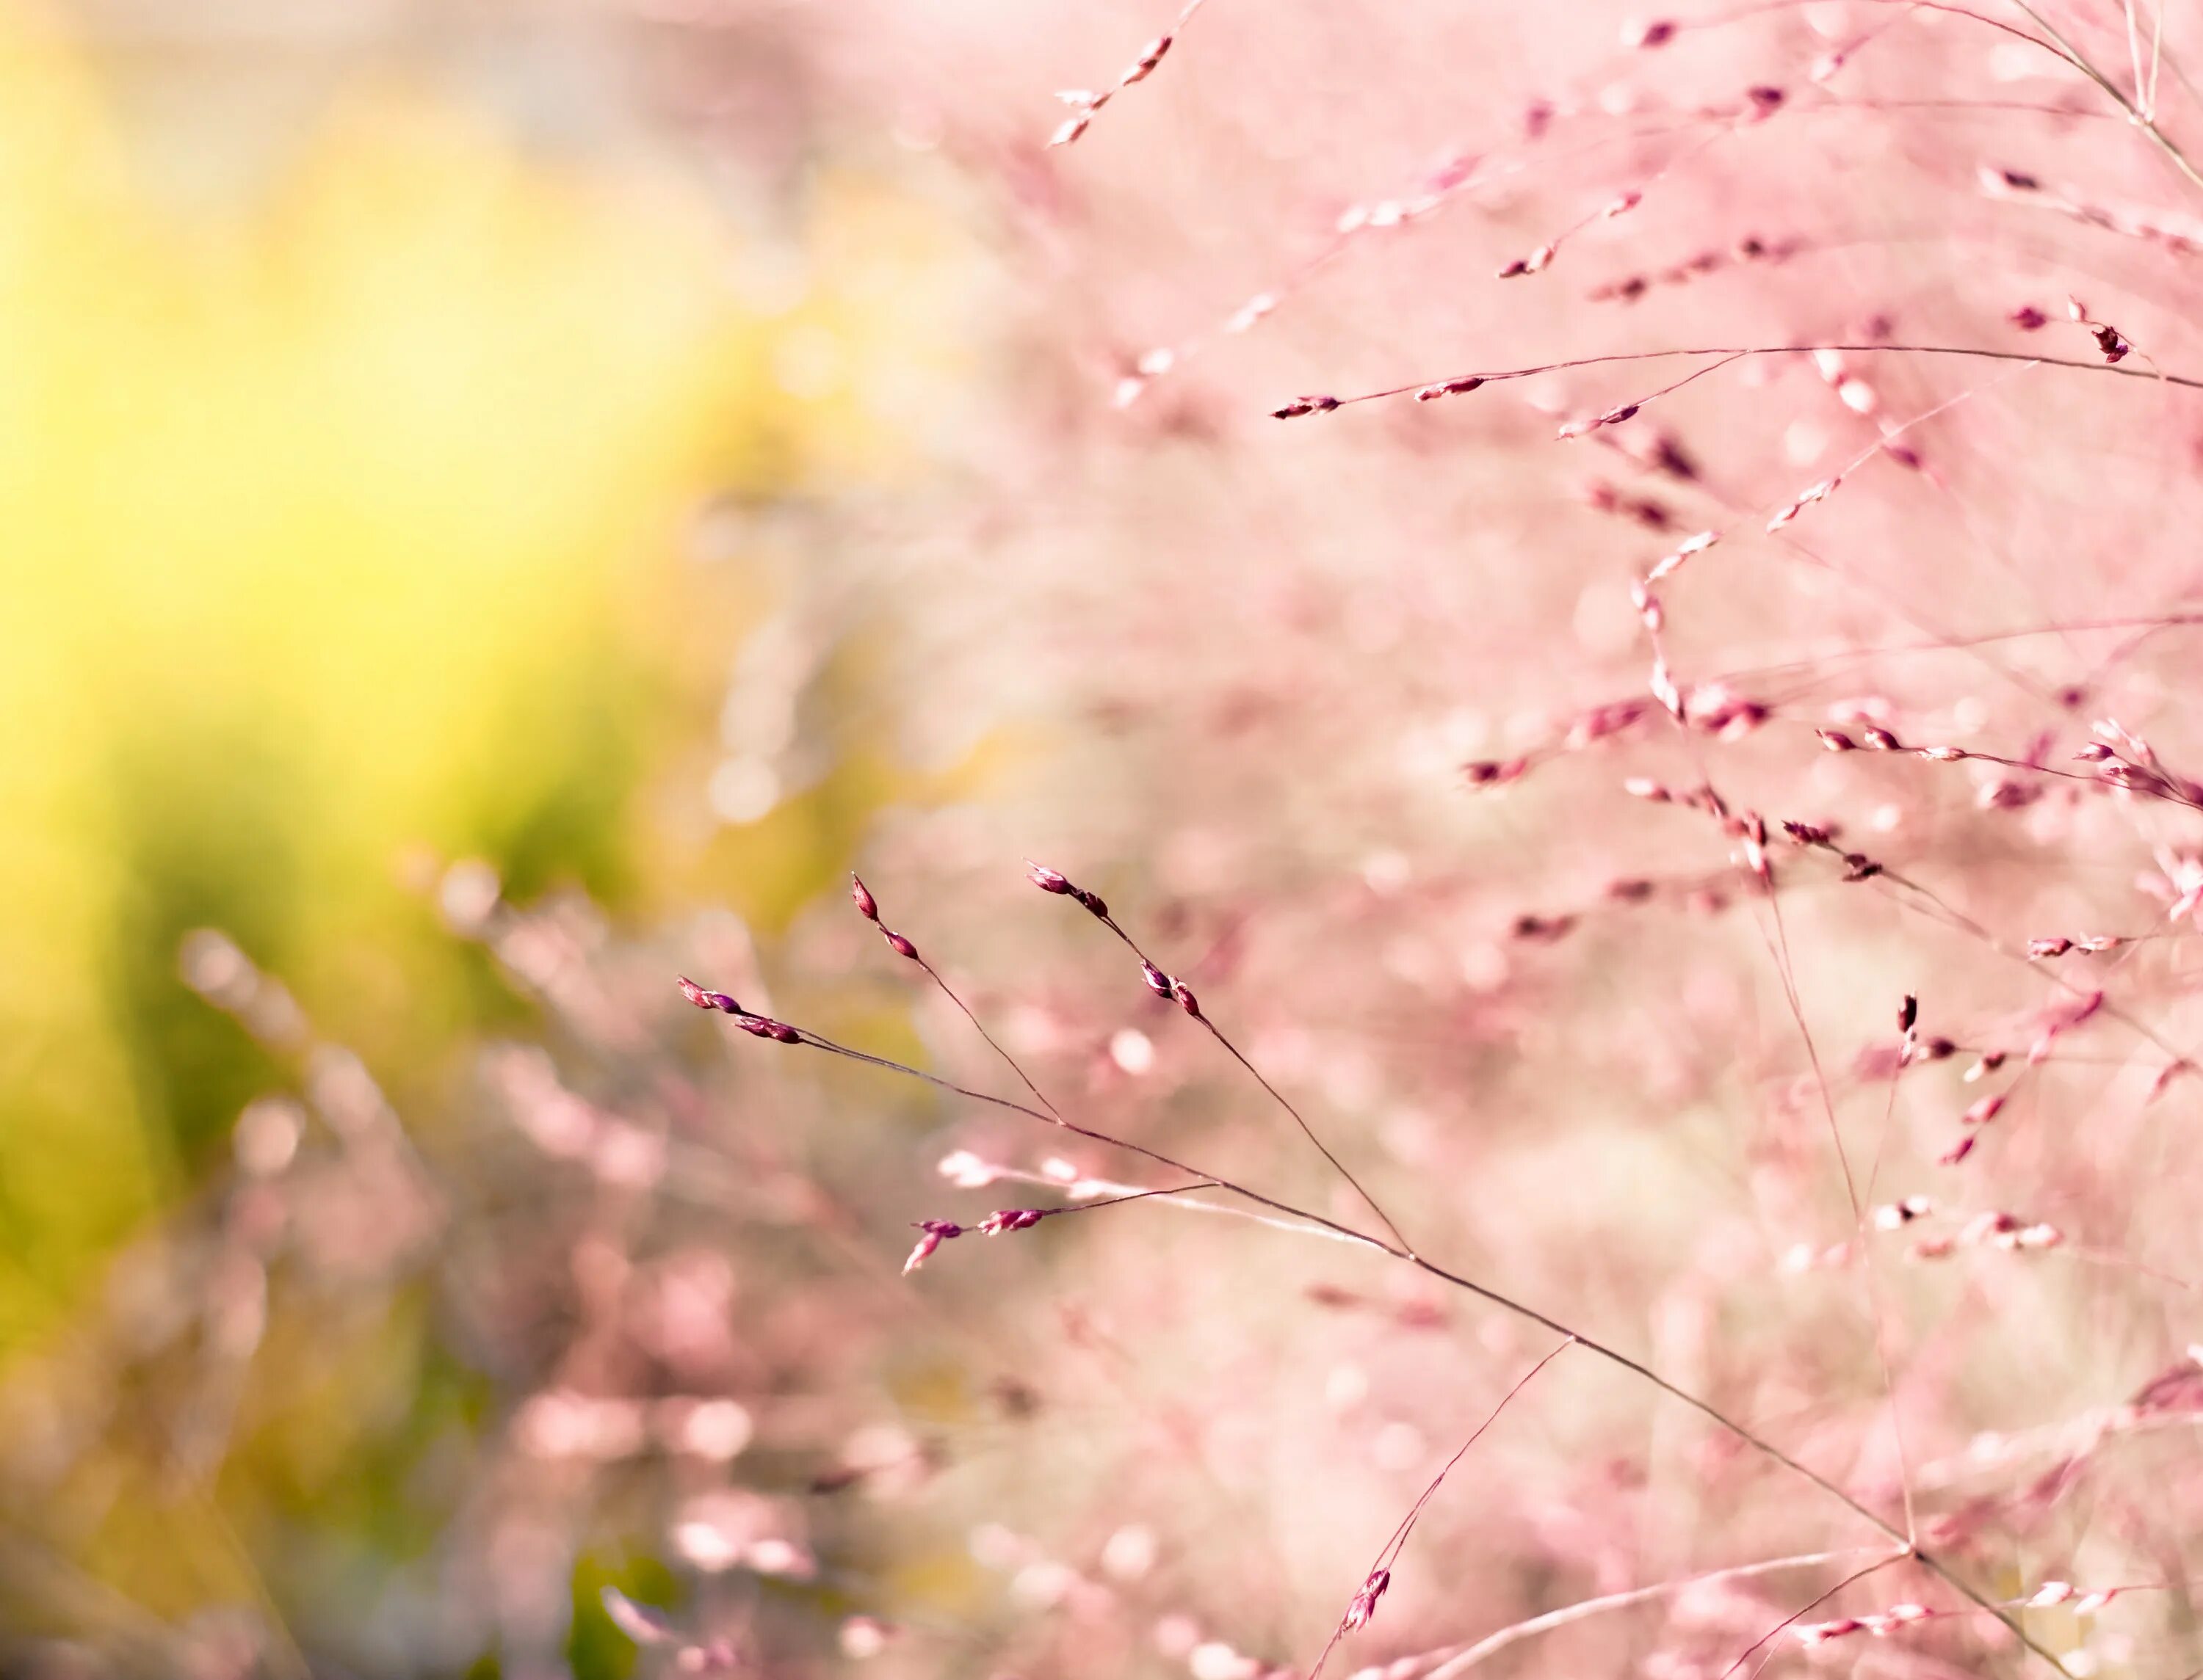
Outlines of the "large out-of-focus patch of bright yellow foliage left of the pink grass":
M 178 984 L 185 931 L 403 1090 L 500 1006 L 412 852 L 767 918 L 839 863 L 817 823 L 877 766 L 703 841 L 641 797 L 769 606 L 690 531 L 892 473 L 846 370 L 949 354 L 910 330 L 947 236 L 857 174 L 806 181 L 811 280 L 760 304 L 679 167 L 531 152 L 388 66 L 249 205 L 163 200 L 123 130 L 0 7 L 0 1359 L 271 1083 Z

